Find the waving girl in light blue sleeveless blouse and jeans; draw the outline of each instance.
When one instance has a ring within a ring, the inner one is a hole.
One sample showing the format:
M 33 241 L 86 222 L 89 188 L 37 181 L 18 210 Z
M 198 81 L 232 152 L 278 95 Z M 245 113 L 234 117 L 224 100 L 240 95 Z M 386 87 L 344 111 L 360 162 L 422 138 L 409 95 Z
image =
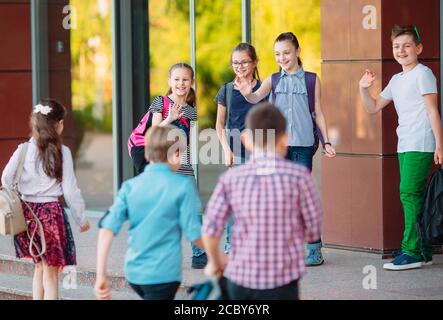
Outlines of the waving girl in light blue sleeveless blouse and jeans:
M 257 103 L 270 94 L 270 101 L 283 113 L 289 134 L 286 158 L 312 171 L 318 138 L 327 157 L 336 153 L 328 139 L 326 120 L 320 105 L 320 79 L 305 72 L 300 59 L 300 45 L 292 32 L 280 34 L 274 43 L 275 60 L 280 71 L 266 78 L 257 91 L 245 77 L 235 84 L 250 103 Z M 308 244 L 306 264 L 321 265 L 322 241 Z

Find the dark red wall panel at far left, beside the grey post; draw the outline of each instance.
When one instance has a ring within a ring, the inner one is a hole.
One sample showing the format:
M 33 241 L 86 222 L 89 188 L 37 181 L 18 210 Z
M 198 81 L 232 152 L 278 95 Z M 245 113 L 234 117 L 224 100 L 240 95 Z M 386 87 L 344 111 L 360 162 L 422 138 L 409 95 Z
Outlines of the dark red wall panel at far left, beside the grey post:
M 29 1 L 0 1 L 0 171 L 28 135 L 32 106 Z

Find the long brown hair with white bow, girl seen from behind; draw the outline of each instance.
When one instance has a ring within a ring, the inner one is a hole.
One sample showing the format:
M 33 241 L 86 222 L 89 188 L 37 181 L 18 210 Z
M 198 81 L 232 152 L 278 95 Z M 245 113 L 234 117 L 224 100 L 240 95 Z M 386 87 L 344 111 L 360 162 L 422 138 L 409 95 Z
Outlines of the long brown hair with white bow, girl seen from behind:
M 61 182 L 63 177 L 62 142 L 56 126 L 65 118 L 66 108 L 54 99 L 43 99 L 39 105 L 51 109 L 44 114 L 36 112 L 37 107 L 34 107 L 31 114 L 31 129 L 36 140 L 39 160 L 41 160 L 44 172 Z

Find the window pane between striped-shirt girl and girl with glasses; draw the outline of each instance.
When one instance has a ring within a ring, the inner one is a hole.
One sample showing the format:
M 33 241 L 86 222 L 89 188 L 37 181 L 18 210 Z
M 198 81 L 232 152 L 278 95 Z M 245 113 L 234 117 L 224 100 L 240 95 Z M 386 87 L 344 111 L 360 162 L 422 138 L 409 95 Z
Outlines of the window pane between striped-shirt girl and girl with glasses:
M 232 50 L 242 39 L 241 0 L 199 0 L 196 6 L 199 129 L 215 129 L 215 96 L 223 84 L 234 79 L 230 60 Z M 215 138 L 214 142 L 219 146 L 215 131 L 213 133 L 211 137 Z M 199 188 L 203 205 L 214 190 L 219 175 L 226 170 L 222 164 L 221 147 L 219 151 L 218 164 L 199 164 Z

